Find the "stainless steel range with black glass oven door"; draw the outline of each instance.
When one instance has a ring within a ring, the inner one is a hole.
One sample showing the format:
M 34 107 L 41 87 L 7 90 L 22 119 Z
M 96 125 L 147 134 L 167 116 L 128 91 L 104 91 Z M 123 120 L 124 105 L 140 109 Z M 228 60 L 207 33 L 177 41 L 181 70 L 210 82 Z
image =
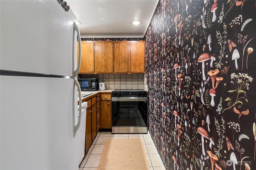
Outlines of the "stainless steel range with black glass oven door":
M 147 133 L 148 99 L 146 91 L 112 92 L 112 133 Z

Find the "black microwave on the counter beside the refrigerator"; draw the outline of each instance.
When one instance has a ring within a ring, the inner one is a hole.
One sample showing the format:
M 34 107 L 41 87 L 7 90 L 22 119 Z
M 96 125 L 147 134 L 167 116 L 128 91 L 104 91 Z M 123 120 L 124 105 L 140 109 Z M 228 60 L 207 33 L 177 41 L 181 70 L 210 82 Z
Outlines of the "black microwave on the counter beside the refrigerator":
M 99 90 L 98 78 L 78 78 L 77 80 L 80 84 L 81 91 Z

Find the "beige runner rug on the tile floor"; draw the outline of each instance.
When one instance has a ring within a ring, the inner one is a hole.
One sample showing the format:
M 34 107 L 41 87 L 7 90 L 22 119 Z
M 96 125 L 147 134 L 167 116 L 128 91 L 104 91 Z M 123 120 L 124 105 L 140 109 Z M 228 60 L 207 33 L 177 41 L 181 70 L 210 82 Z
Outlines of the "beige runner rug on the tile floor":
M 107 139 L 98 170 L 149 170 L 141 139 Z

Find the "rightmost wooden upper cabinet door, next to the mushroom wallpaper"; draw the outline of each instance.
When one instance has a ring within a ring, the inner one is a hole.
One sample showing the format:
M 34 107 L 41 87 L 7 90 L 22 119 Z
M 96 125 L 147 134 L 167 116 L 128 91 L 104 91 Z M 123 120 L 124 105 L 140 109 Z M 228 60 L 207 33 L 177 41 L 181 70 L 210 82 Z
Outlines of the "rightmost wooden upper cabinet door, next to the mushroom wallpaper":
M 144 73 L 145 41 L 131 41 L 130 73 Z

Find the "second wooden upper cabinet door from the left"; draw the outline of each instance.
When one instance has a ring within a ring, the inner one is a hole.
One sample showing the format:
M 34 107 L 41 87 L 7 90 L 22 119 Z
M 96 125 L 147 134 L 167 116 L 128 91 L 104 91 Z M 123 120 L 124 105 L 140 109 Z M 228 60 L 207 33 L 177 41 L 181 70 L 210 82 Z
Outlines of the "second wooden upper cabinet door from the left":
M 96 73 L 113 73 L 113 43 L 94 42 L 94 66 Z

